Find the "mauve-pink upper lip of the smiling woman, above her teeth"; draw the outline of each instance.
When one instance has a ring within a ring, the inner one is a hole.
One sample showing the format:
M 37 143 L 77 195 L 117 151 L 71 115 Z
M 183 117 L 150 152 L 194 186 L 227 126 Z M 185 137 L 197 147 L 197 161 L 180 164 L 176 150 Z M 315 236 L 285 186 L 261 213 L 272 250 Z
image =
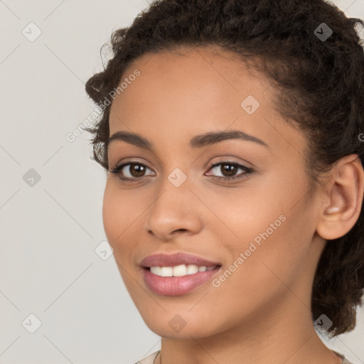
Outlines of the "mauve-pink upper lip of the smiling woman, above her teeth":
M 141 260 L 141 267 L 175 267 L 180 264 L 196 264 L 204 265 L 205 267 L 215 267 L 216 265 L 221 265 L 218 262 L 210 262 L 196 255 L 186 254 L 186 253 L 175 253 L 172 255 L 166 254 L 154 254 L 145 257 Z

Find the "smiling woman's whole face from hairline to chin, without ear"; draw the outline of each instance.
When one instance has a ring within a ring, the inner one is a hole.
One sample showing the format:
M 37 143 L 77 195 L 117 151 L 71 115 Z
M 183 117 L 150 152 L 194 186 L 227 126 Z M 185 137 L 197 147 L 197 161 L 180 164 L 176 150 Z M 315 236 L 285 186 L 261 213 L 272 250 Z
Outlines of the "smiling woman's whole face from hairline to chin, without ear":
M 112 104 L 109 136 L 134 133 L 150 144 L 109 143 L 110 170 L 124 166 L 108 173 L 102 215 L 124 284 L 146 325 L 168 338 L 266 326 L 292 305 L 307 310 L 297 296 L 309 305 L 323 245 L 313 241 L 306 139 L 274 110 L 269 82 L 233 55 L 182 53 L 137 59 L 123 79 L 139 76 Z M 232 131 L 245 137 L 196 138 Z M 217 267 L 183 260 L 198 266 L 186 276 L 182 261 L 141 267 L 175 253 Z M 159 276 L 171 272 L 182 276 Z

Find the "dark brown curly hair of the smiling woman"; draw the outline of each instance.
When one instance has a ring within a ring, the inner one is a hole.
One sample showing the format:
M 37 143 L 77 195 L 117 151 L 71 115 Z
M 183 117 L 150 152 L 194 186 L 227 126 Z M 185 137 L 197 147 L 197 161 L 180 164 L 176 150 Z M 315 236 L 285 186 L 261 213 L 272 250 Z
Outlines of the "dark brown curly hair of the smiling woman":
M 325 24 L 322 24 L 325 23 Z M 92 159 L 108 169 L 108 96 L 141 55 L 178 47 L 218 48 L 237 55 L 272 82 L 277 111 L 304 132 L 310 186 L 343 156 L 363 165 L 364 52 L 357 25 L 324 0 L 156 0 L 127 28 L 112 32 L 112 58 L 86 82 L 102 112 L 93 128 Z M 332 34 L 327 39 L 319 34 Z M 323 29 L 325 31 L 323 31 Z M 119 92 L 118 92 L 119 93 Z M 107 100 L 108 102 L 105 102 Z M 106 105 L 107 104 L 107 105 Z M 332 321 L 326 336 L 352 331 L 364 289 L 364 218 L 328 242 L 311 291 L 312 320 Z

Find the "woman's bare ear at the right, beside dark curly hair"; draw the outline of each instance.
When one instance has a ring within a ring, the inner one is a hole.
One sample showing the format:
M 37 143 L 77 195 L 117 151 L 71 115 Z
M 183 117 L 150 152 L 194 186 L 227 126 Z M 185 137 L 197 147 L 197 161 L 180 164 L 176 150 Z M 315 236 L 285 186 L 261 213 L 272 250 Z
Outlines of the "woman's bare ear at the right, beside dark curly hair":
M 345 156 L 331 168 L 327 202 L 319 213 L 316 232 L 326 240 L 346 235 L 359 218 L 364 193 L 364 171 L 358 154 Z

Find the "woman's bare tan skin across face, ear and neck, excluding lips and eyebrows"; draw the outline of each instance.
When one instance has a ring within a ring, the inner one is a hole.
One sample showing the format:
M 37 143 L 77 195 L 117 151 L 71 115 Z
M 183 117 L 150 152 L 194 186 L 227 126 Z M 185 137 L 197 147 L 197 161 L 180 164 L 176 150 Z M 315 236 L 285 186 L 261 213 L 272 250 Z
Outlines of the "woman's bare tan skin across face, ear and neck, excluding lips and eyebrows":
M 124 284 L 146 325 L 162 337 L 156 363 L 341 363 L 314 330 L 311 287 L 331 243 L 326 239 L 345 235 L 358 220 L 364 172 L 357 156 L 338 161 L 310 197 L 306 139 L 274 110 L 267 79 L 214 48 L 145 54 L 124 76 L 136 68 L 141 75 L 112 103 L 109 135 L 141 134 L 155 152 L 109 144 L 110 168 L 126 161 L 148 168 L 129 184 L 108 173 L 102 216 Z M 240 107 L 247 95 L 260 103 L 251 115 Z M 225 129 L 269 147 L 230 139 L 188 148 L 197 134 Z M 218 162 L 255 173 L 213 181 L 229 176 L 223 166 L 209 169 Z M 187 177 L 178 188 L 168 181 L 175 168 Z M 138 176 L 129 166 L 123 171 Z M 160 252 L 221 262 L 224 272 L 280 215 L 286 220 L 220 287 L 207 282 L 182 296 L 161 296 L 144 283 L 139 262 Z M 168 324 L 176 314 L 186 323 L 179 332 Z

